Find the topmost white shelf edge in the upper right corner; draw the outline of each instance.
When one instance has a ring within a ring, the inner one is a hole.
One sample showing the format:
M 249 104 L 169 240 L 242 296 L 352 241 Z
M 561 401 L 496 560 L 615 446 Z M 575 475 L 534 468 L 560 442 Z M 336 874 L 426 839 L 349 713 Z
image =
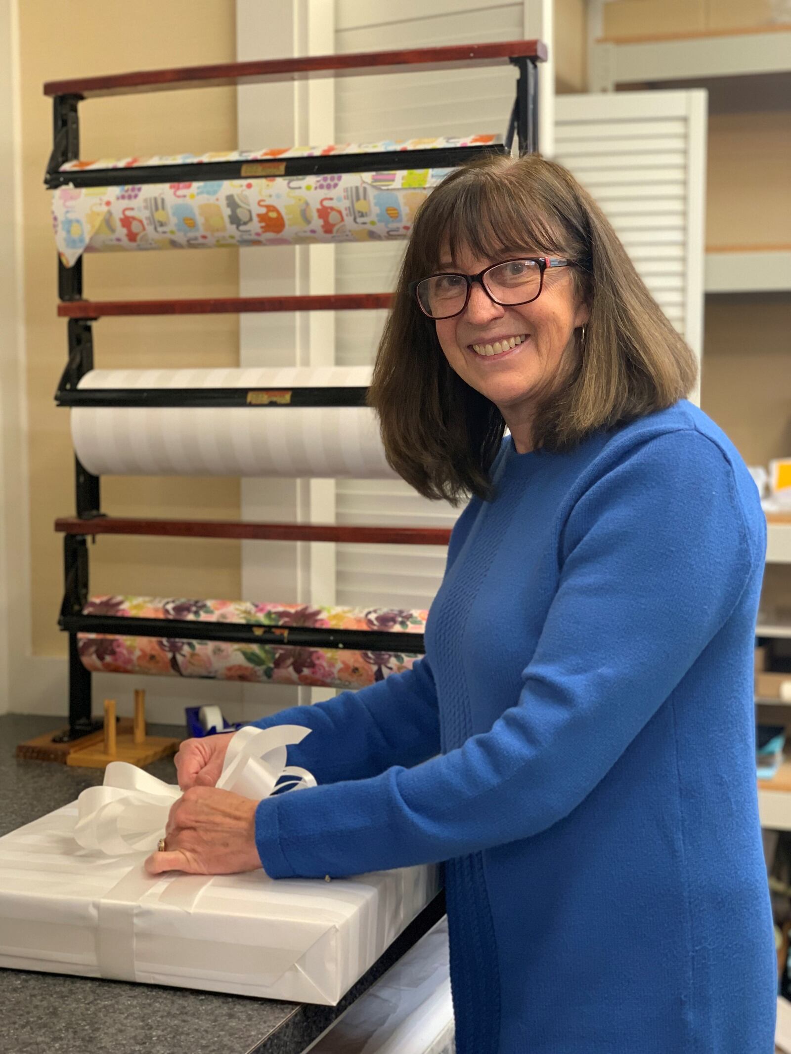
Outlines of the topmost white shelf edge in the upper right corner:
M 791 73 L 791 26 L 600 39 L 591 48 L 591 90 L 715 77 Z

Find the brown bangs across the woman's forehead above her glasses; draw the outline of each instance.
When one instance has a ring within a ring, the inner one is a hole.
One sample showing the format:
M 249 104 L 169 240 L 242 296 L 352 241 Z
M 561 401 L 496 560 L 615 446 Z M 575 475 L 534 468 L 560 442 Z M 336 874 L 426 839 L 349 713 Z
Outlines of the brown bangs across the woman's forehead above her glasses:
M 411 236 L 414 277 L 458 261 L 465 250 L 478 259 L 497 259 L 533 250 L 561 251 L 540 196 L 508 179 L 510 159 L 457 170 L 426 199 Z M 507 165 L 507 169 L 505 168 Z M 503 171 L 505 169 L 505 171 Z M 455 178 L 456 177 L 456 178 Z M 503 183 L 513 186 L 504 188 Z M 445 258 L 449 252 L 450 259 Z

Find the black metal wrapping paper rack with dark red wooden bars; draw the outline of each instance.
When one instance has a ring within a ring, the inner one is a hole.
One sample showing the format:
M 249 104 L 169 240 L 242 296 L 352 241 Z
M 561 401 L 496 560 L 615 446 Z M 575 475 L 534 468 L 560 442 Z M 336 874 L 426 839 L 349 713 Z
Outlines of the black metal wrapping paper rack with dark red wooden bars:
M 101 186 L 109 181 L 113 186 L 118 186 L 121 180 L 130 178 L 130 169 L 94 168 L 89 174 L 88 167 L 80 173 L 80 165 L 75 165 L 64 172 L 59 170 L 69 162 L 79 160 L 79 116 L 78 106 L 83 100 L 98 98 L 109 95 L 134 94 L 151 91 L 169 91 L 177 89 L 191 89 L 202 86 L 220 86 L 229 84 L 267 83 L 276 81 L 294 81 L 313 78 L 328 78 L 335 75 L 343 76 L 364 76 L 375 74 L 389 74 L 409 72 L 416 67 L 422 71 L 441 71 L 452 69 L 466 69 L 470 64 L 477 66 L 503 66 L 513 65 L 518 71 L 514 105 L 508 119 L 506 135 L 504 138 L 505 151 L 510 151 L 516 140 L 520 153 L 533 152 L 538 145 L 538 72 L 537 63 L 546 59 L 546 47 L 538 40 L 506 41 L 487 44 L 464 44 L 447 47 L 412 48 L 389 52 L 375 52 L 351 55 L 330 55 L 310 56 L 292 59 L 274 59 L 259 62 L 229 63 L 219 65 L 194 66 L 184 69 L 168 69 L 156 71 L 143 71 L 137 73 L 127 73 L 112 76 L 78 78 L 72 80 L 51 81 L 44 85 L 44 94 L 53 98 L 53 151 L 46 167 L 45 181 L 47 186 L 57 187 L 65 182 L 76 186 L 77 180 L 82 180 L 82 186 Z M 500 148 L 502 150 L 502 148 Z M 443 148 L 452 152 L 451 148 Z M 440 151 L 426 151 L 430 153 L 430 160 L 437 163 Z M 480 151 L 479 151 L 480 153 Z M 459 158 L 454 155 L 455 163 L 460 163 Z M 335 157 L 328 155 L 326 158 L 292 158 L 290 161 L 257 161 L 262 165 L 261 174 L 268 175 L 274 172 L 272 164 L 277 167 L 277 172 L 317 172 L 315 165 L 330 165 L 331 171 L 349 171 L 353 164 L 373 163 L 380 168 L 383 164 L 394 163 L 398 158 L 379 154 L 373 160 L 358 155 L 353 159 L 350 155 L 339 154 Z M 428 159 L 427 159 L 428 160 Z M 223 162 L 226 163 L 226 162 Z M 232 175 L 240 175 L 244 160 L 234 160 L 232 164 Z M 312 165 L 312 168 L 311 168 Z M 195 174 L 204 179 L 212 175 L 216 176 L 219 170 L 207 168 L 207 162 L 173 165 L 173 172 L 165 165 L 160 165 L 157 171 L 156 165 L 138 165 L 134 169 L 134 178 L 140 181 L 161 181 L 175 174 L 177 178 L 185 178 L 188 170 L 195 170 Z M 322 171 L 325 171 L 322 169 Z M 330 171 L 328 168 L 326 171 Z M 93 334 L 92 323 L 100 317 L 122 316 L 122 315 L 166 315 L 166 314 L 209 314 L 209 313 L 232 313 L 249 311 L 298 311 L 298 310 L 371 310 L 389 306 L 391 297 L 388 294 L 364 294 L 360 296 L 305 296 L 305 297 L 234 297 L 234 298 L 205 298 L 192 300 L 146 300 L 146 301 L 103 301 L 90 302 L 82 297 L 82 259 L 66 268 L 62 260 L 58 264 L 58 294 L 60 306 L 58 314 L 60 317 L 69 319 L 69 363 L 61 383 L 58 388 L 57 398 L 60 405 L 104 405 L 119 406 L 132 405 L 130 401 L 135 399 L 135 405 L 153 405 L 153 398 L 168 398 L 173 402 L 159 403 L 159 405 L 184 406 L 186 398 L 200 398 L 201 406 L 207 405 L 228 405 L 223 404 L 224 398 L 242 398 L 242 403 L 232 405 L 245 405 L 266 407 L 267 401 L 250 401 L 250 392 L 234 391 L 229 393 L 224 390 L 205 390 L 197 392 L 181 391 L 175 393 L 178 401 L 174 399 L 174 393 L 153 394 L 149 391 L 95 390 L 78 391 L 81 378 L 93 369 Z M 296 389 L 291 391 L 294 397 Z M 302 394 L 296 398 L 317 398 L 316 393 L 302 390 Z M 326 394 L 322 397 L 326 398 Z M 335 396 L 337 397 L 337 393 Z M 364 399 L 365 389 L 354 392 L 344 392 L 342 397 L 353 398 L 359 405 L 359 401 Z M 101 403 L 97 401 L 101 399 Z M 195 404 L 197 405 L 197 404 Z M 271 405 L 271 404 L 269 404 Z M 276 403 L 274 405 L 277 405 Z M 296 405 L 289 403 L 286 405 Z M 306 405 L 306 404 L 303 404 Z M 311 405 L 311 404 L 308 404 Z M 315 405 L 315 404 L 312 404 Z M 348 404 L 347 404 L 348 405 Z M 69 655 L 70 655 L 70 729 L 66 739 L 76 739 L 85 735 L 96 727 L 91 719 L 91 675 L 82 666 L 77 649 L 77 635 L 80 629 L 83 631 L 108 631 L 111 622 L 105 618 L 96 616 L 85 616 L 82 608 L 88 599 L 89 580 L 89 558 L 88 538 L 98 533 L 139 533 L 139 534 L 160 534 L 171 536 L 206 536 L 206 538 L 259 538 L 283 540 L 310 540 L 310 541 L 377 541 L 401 544 L 445 544 L 448 532 L 436 532 L 430 538 L 425 531 L 411 531 L 408 529 L 393 528 L 370 528 L 370 527 L 335 527 L 334 525 L 283 525 L 283 524 L 243 524 L 227 523 L 217 524 L 212 522 L 188 522 L 188 521 L 130 521 L 121 518 L 115 519 L 105 516 L 101 512 L 99 477 L 92 475 L 76 460 L 76 497 L 77 518 L 59 521 L 58 529 L 64 533 L 64 580 L 65 589 L 63 605 L 60 613 L 60 624 L 69 633 Z M 371 532 L 377 532 L 372 536 Z M 108 617 L 109 618 L 109 617 Z M 112 621 L 112 620 L 111 620 Z M 123 629 L 116 627 L 112 622 L 110 631 L 116 629 L 129 632 L 130 621 L 137 623 L 138 631 L 146 625 L 154 633 L 161 635 L 161 625 L 149 626 L 146 620 L 118 620 L 123 623 Z M 102 626 L 103 629 L 98 627 Z M 174 621 L 169 620 L 171 629 L 176 627 Z M 305 627 L 303 627 L 305 628 Z M 261 627 L 256 627 L 261 630 Z M 200 629 L 191 623 L 189 633 L 198 639 L 198 632 L 209 631 L 206 627 Z M 213 627 L 211 632 L 230 632 L 228 626 Z M 246 632 L 253 636 L 250 627 L 236 626 L 233 632 Z M 293 632 L 293 630 L 291 631 Z M 317 629 L 311 629 L 315 635 Z M 344 633 L 355 633 L 353 630 L 343 631 Z M 323 636 L 323 635 L 322 635 Z M 337 636 L 337 633 L 336 633 Z M 349 645 L 360 642 L 356 637 L 348 638 Z M 375 647 L 382 641 L 374 642 L 373 636 L 368 631 L 362 632 L 365 638 L 363 647 Z M 386 637 L 388 635 L 385 635 Z M 398 635 L 392 635 L 398 636 Z M 410 651 L 418 649 L 418 635 L 410 635 Z M 257 642 L 261 642 L 259 632 L 254 633 Z M 209 639 L 204 637 L 202 639 Z M 215 638 L 217 639 L 217 638 Z M 279 643 L 283 643 L 283 636 L 277 635 Z M 293 639 L 293 638 L 292 638 Z M 311 636 L 310 640 L 316 640 Z M 335 644 L 337 640 L 333 641 Z M 385 643 L 387 643 L 385 641 Z M 398 642 L 398 646 L 403 646 L 403 636 Z M 422 637 L 420 640 L 420 650 L 422 650 Z M 346 641 L 344 640 L 344 645 Z

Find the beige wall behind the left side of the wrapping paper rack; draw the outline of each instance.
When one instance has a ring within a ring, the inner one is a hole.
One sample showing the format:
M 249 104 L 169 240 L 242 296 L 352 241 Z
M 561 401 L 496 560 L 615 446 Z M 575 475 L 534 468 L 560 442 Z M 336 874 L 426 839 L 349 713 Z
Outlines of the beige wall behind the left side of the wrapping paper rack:
M 63 655 L 56 625 L 62 593 L 57 515 L 73 514 L 74 463 L 69 412 L 53 405 L 66 360 L 66 324 L 56 317 L 57 269 L 49 194 L 42 187 L 52 149 L 52 103 L 45 80 L 136 69 L 196 65 L 235 58 L 233 0 L 198 8 L 138 0 L 49 0 L 19 3 L 24 203 L 24 291 L 30 414 L 33 650 Z M 199 9 L 199 17 L 195 11 Z M 80 104 L 80 156 L 204 153 L 236 147 L 232 87 L 88 100 Z M 88 256 L 84 295 L 187 297 L 237 295 L 237 256 L 129 253 Z M 234 366 L 234 315 L 184 319 L 104 319 L 94 326 L 96 364 L 113 367 Z M 238 516 L 238 481 L 115 477 L 103 481 L 102 507 L 116 514 Z M 100 539 L 92 549 L 96 592 L 237 597 L 236 544 L 155 539 Z

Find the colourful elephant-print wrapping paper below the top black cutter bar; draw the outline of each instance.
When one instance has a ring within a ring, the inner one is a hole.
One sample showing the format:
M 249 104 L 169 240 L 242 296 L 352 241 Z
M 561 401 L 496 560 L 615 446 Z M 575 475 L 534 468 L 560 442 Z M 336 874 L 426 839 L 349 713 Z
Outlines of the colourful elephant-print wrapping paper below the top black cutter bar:
M 84 252 L 406 238 L 450 171 L 67 186 L 52 192 L 53 227 L 65 267 Z

